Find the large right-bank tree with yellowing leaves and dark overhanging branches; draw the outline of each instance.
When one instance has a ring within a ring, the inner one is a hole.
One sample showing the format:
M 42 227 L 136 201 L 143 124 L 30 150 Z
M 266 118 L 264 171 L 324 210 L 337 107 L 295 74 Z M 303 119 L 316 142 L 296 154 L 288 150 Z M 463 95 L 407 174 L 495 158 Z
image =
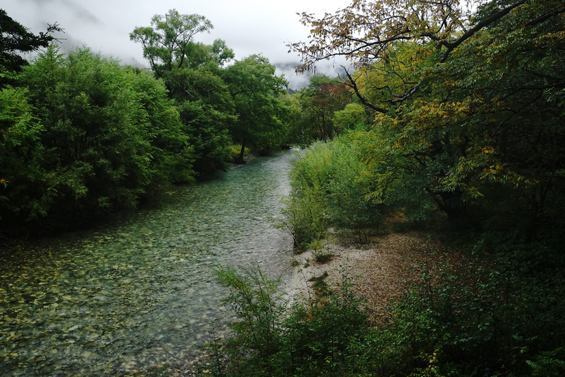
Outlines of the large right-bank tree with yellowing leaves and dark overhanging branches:
M 533 209 L 562 181 L 564 12 L 561 1 L 489 1 L 474 14 L 451 0 L 353 1 L 303 14 L 314 38 L 292 48 L 303 69 L 334 55 L 357 66 L 344 82 L 380 114 L 360 140 L 384 185 L 375 197 L 426 193 L 455 218 L 510 183 Z

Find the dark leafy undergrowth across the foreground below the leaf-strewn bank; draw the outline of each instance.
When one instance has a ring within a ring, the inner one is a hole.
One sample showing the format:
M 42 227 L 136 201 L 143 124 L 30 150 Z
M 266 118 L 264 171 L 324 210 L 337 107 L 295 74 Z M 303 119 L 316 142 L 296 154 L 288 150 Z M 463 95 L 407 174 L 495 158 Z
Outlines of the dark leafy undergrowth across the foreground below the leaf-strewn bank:
M 485 233 L 455 265 L 429 250 L 376 327 L 349 271 L 336 283 L 316 277 L 318 293 L 289 304 L 281 281 L 256 267 L 218 270 L 238 322 L 211 350 L 213 374 L 564 376 L 564 257 L 517 241 Z

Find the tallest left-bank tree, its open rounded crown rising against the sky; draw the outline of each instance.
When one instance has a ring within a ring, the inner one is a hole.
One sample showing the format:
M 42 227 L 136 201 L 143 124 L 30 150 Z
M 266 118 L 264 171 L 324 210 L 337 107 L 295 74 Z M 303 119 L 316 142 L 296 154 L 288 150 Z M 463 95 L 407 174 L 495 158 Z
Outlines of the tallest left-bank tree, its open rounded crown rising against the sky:
M 212 23 L 204 16 L 169 10 L 164 16 L 153 16 L 151 27 L 136 27 L 130 34 L 131 40 L 142 43 L 153 73 L 163 79 L 168 96 L 179 107 L 199 174 L 227 167 L 231 157 L 227 129 L 236 119 L 221 77 L 221 67 L 233 59 L 234 51 L 221 39 L 210 45 L 193 40 L 210 29 Z

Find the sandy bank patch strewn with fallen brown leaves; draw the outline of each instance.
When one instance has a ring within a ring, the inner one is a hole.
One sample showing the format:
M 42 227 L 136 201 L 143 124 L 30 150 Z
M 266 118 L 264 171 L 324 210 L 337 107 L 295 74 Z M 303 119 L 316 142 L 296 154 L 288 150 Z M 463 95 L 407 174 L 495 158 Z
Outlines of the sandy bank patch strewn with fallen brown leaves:
M 324 246 L 332 257 L 318 263 L 312 250 L 295 255 L 294 269 L 288 291 L 292 296 L 315 294 L 315 278 L 327 273 L 324 281 L 329 287 L 342 281 L 342 273 L 354 277 L 355 296 L 366 302 L 374 325 L 388 322 L 388 308 L 405 293 L 407 283 L 418 276 L 418 263 L 429 261 L 431 254 L 447 252 L 440 242 L 430 242 L 418 232 L 390 232 L 369 237 L 366 244 L 354 244 L 329 237 Z M 450 250 L 453 255 L 453 250 Z

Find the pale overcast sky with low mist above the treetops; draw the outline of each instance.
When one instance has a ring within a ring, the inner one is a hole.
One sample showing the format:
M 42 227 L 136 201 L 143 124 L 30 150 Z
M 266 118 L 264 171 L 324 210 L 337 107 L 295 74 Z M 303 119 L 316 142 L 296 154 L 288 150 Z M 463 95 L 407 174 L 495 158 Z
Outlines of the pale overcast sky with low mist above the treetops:
M 299 62 L 288 53 L 288 42 L 307 40 L 308 29 L 299 23 L 297 12 L 321 17 L 347 7 L 350 0 L 2 0 L 8 16 L 34 33 L 45 31 L 48 23 L 64 29 L 66 44 L 86 44 L 93 51 L 112 55 L 125 64 L 148 66 L 141 44 L 131 42 L 129 33 L 136 26 L 150 26 L 154 14 L 175 8 L 181 14 L 201 14 L 214 29 L 195 40 L 212 43 L 223 39 L 240 60 L 262 53 L 284 73 L 291 88 L 307 83 L 307 76 L 295 75 Z M 318 70 L 336 75 L 331 63 L 318 64 Z

